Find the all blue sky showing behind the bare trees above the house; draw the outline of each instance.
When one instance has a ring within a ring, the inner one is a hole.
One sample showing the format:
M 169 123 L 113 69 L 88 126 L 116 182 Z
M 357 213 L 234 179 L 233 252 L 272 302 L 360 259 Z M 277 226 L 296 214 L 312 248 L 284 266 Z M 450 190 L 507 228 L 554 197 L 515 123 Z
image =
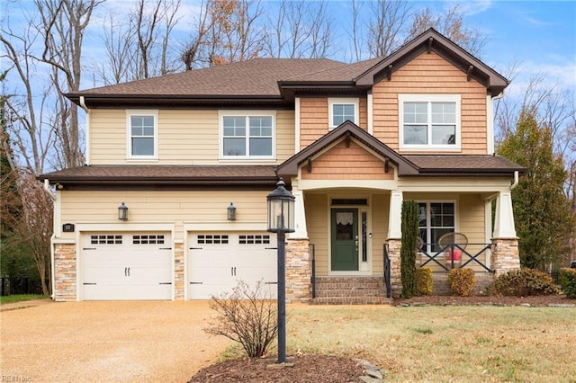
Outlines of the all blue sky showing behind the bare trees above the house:
M 262 0 L 271 3 L 275 0 Z M 328 0 L 333 17 L 337 19 L 338 33 L 347 35 L 347 0 Z M 368 0 L 370 1 L 370 0 Z M 0 0 L 0 13 L 10 12 L 11 8 L 24 5 L 32 8 L 31 0 Z M 113 9 L 114 13 L 128 12 L 135 0 L 107 0 L 99 8 Z M 182 20 L 177 30 L 189 31 L 191 15 L 198 10 L 200 0 L 182 0 L 180 14 Z M 521 92 L 531 76 L 541 74 L 549 84 L 560 83 L 576 89 L 576 0 L 567 1 L 517 1 L 517 0 L 462 0 L 462 1 L 411 1 L 413 9 L 429 6 L 437 13 L 451 5 L 459 4 L 464 13 L 466 25 L 482 30 L 487 36 L 487 44 L 482 50 L 482 60 L 503 75 L 507 75 L 511 63 L 517 63 L 518 74 L 511 78 L 512 85 L 508 92 Z M 102 14 L 102 13 L 100 13 Z M 102 40 L 98 36 L 102 25 L 97 22 L 98 14 L 94 13 L 93 26 L 86 33 L 87 45 L 100 47 L 85 49 L 92 51 L 98 59 L 102 53 Z M 188 20 L 186 20 L 188 19 Z M 12 22 L 18 16 L 12 15 Z M 22 20 L 22 19 L 20 19 Z M 342 23 L 344 22 L 344 24 Z M 184 32 L 185 33 L 185 32 Z M 184 36 L 184 33 L 182 36 Z M 348 45 L 346 43 L 346 45 Z M 344 47 L 343 47 L 344 48 Z M 343 49 L 344 50 L 344 49 Z M 100 52 L 100 53 L 98 53 Z M 349 54 L 334 59 L 347 61 Z M 91 58 L 90 58 L 91 59 Z M 89 59 L 89 60 L 90 60 Z M 91 87 L 86 84 L 85 87 Z

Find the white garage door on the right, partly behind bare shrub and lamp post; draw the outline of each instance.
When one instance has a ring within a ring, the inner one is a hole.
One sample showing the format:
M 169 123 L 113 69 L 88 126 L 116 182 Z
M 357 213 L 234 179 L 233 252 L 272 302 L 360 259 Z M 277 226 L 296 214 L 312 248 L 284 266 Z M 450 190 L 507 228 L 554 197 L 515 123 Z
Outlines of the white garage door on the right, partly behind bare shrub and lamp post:
M 190 233 L 188 244 L 188 298 L 209 299 L 229 293 L 238 281 L 251 287 L 262 281 L 264 297 L 276 297 L 276 236 L 266 232 Z

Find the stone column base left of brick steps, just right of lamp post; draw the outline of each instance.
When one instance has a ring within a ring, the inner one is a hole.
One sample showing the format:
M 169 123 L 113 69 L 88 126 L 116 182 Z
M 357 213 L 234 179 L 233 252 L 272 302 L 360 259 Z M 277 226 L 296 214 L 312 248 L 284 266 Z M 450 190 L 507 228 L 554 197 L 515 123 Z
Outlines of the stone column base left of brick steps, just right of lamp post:
M 286 244 L 286 301 L 311 298 L 310 240 L 288 238 Z

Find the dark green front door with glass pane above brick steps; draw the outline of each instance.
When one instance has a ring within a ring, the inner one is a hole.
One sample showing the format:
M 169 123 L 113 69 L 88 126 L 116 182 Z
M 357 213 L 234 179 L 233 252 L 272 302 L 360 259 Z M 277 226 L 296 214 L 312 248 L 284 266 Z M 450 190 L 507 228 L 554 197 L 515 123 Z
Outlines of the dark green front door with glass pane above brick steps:
M 358 209 L 332 209 L 332 271 L 358 270 Z

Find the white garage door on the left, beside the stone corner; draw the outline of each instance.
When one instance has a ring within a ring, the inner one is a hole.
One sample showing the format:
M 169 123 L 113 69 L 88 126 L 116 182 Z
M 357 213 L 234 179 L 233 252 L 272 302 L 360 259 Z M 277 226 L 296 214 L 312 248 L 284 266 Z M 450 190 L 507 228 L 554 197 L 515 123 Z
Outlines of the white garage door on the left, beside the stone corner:
M 82 246 L 85 300 L 172 298 L 169 233 L 86 233 Z

